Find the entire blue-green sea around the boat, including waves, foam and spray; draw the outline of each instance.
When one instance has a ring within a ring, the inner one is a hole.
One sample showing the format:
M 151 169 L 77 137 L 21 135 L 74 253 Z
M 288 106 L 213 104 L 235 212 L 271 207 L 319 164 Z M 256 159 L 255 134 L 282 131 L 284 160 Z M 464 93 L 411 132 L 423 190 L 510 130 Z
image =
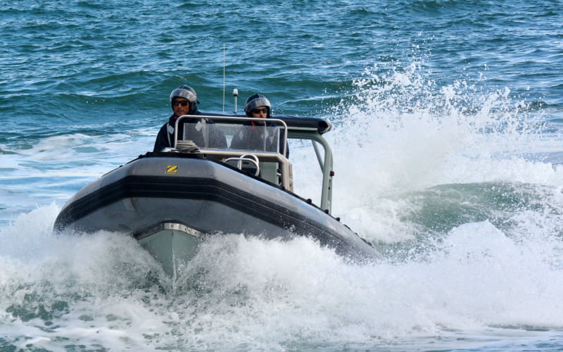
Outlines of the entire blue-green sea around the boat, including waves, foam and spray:
M 562 8 L 0 0 L 0 351 L 562 350 Z M 172 282 L 123 234 L 55 236 L 180 84 L 329 118 L 333 213 L 384 258 L 233 233 Z

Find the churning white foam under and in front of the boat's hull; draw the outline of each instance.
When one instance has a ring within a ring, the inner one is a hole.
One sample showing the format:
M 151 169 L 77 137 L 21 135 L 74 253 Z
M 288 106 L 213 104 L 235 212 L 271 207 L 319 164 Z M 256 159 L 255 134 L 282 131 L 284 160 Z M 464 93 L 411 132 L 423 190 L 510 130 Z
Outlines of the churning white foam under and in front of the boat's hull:
M 130 237 L 53 237 L 57 212 L 39 208 L 0 232 L 2 321 L 38 348 L 404 349 L 437 335 L 455 348 L 456 331 L 483 346 L 563 327 L 561 239 L 525 212 L 519 236 L 466 222 L 439 241 L 398 242 L 369 265 L 305 237 L 225 234 L 176 281 Z

